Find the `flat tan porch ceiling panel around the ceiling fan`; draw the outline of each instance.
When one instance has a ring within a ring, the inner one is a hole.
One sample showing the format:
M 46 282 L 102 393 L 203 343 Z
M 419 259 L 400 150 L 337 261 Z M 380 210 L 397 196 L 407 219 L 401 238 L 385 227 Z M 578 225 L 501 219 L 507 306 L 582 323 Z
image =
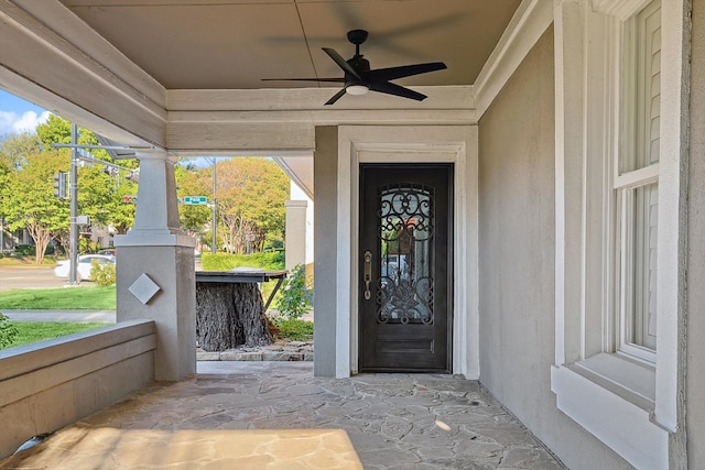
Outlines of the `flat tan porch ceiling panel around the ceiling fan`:
M 370 33 L 372 68 L 448 66 L 400 85 L 471 85 L 520 0 L 61 2 L 166 89 L 257 89 L 318 86 L 262 78 L 341 76 L 321 47 L 351 57 L 354 29 Z

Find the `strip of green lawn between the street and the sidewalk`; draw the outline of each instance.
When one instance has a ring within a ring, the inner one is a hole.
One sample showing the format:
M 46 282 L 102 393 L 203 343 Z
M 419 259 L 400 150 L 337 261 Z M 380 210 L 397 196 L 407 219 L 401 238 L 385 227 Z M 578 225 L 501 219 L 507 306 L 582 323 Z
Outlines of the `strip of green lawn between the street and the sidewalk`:
M 115 285 L 106 287 L 23 288 L 0 293 L 0 311 L 115 310 Z

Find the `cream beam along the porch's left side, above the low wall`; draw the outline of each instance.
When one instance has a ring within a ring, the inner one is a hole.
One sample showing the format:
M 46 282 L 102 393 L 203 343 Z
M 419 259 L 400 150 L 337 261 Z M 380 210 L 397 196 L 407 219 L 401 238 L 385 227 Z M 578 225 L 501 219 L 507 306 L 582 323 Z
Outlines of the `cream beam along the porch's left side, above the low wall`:
M 165 90 L 58 1 L 0 0 L 0 87 L 95 132 L 165 144 Z

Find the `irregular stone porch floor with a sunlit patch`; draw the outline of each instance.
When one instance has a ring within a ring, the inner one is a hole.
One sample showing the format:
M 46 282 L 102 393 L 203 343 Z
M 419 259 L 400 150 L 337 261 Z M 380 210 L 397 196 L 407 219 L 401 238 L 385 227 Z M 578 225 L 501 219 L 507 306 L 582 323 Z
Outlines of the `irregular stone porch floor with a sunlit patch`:
M 313 376 L 312 362 L 198 362 L 0 461 L 2 469 L 563 469 L 475 381 Z

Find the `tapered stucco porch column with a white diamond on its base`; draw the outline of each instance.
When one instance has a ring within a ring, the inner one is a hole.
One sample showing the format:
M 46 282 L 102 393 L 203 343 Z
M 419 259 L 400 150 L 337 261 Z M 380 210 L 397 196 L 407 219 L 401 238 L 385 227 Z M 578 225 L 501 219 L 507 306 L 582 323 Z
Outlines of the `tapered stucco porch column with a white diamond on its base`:
M 140 185 L 134 227 L 115 237 L 117 319 L 154 320 L 154 379 L 178 381 L 196 372 L 196 240 L 178 225 L 175 160 L 164 152 L 137 156 Z

